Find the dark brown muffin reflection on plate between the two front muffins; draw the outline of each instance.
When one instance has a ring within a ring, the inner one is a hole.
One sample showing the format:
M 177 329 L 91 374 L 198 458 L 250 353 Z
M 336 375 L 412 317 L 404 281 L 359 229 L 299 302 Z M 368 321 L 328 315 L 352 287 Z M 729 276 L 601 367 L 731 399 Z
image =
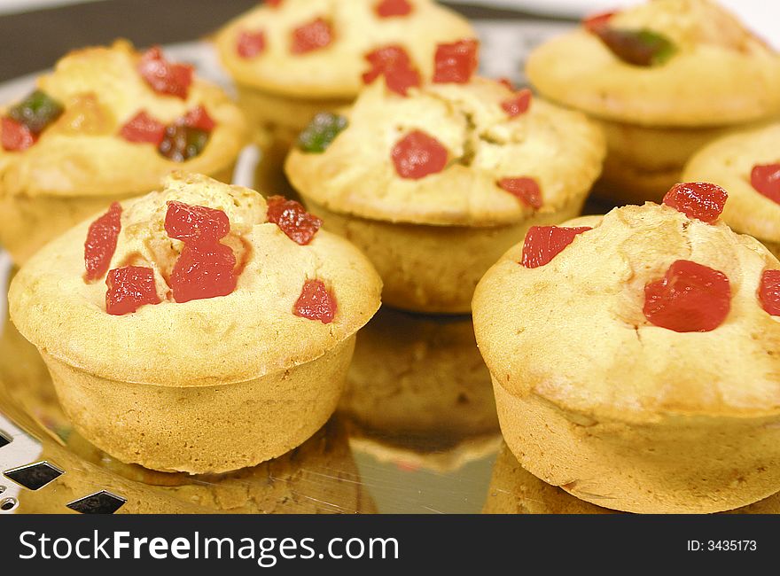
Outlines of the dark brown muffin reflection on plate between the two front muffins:
M 498 418 L 471 318 L 382 308 L 357 339 L 339 412 L 380 460 L 453 469 L 495 448 Z

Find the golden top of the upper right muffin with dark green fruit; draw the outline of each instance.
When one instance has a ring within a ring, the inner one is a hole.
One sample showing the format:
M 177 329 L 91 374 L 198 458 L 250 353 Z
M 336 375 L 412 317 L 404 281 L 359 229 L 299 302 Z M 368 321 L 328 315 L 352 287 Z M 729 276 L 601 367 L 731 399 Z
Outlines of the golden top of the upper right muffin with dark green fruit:
M 527 62 L 542 95 L 598 117 L 641 125 L 709 126 L 780 111 L 780 57 L 712 0 L 653 0 L 606 26 L 650 31 L 671 48 L 652 66 L 628 64 L 582 26 Z

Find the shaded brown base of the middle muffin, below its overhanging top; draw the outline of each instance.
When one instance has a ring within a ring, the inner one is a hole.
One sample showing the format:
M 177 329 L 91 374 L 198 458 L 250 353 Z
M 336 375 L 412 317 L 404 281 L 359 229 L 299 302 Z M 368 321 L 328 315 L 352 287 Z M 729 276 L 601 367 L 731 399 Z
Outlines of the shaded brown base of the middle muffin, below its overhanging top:
M 536 213 L 511 226 L 426 226 L 368 220 L 333 212 L 304 198 L 324 229 L 346 237 L 368 256 L 384 282 L 382 301 L 428 314 L 469 314 L 480 278 L 531 226 L 566 222 L 581 212 L 574 203 Z

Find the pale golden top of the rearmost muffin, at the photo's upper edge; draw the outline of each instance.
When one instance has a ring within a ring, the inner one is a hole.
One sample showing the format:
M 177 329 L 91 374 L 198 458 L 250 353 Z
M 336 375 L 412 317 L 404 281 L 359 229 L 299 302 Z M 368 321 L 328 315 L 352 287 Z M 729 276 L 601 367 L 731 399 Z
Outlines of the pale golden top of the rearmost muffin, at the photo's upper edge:
M 382 4 L 405 4 L 409 12 L 382 17 Z M 380 47 L 402 46 L 430 77 L 438 43 L 474 36 L 468 21 L 432 0 L 282 0 L 234 19 L 215 42 L 238 83 L 321 99 L 355 97 L 369 67 L 365 56 Z

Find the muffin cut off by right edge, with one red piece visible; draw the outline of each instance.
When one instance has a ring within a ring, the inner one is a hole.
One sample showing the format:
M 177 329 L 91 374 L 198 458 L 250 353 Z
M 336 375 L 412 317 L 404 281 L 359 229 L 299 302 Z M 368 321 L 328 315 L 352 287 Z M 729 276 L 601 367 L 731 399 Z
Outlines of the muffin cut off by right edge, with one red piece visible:
M 729 191 L 723 221 L 761 240 L 780 257 L 780 124 L 724 136 L 690 159 L 687 181 L 704 180 Z

